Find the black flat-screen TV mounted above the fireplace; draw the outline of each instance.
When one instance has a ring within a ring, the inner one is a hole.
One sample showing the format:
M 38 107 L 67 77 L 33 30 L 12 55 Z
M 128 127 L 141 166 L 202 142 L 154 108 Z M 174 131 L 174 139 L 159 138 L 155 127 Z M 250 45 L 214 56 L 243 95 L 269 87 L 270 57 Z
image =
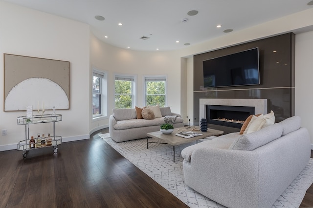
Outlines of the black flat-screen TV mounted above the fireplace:
M 203 61 L 205 88 L 260 84 L 259 49 Z

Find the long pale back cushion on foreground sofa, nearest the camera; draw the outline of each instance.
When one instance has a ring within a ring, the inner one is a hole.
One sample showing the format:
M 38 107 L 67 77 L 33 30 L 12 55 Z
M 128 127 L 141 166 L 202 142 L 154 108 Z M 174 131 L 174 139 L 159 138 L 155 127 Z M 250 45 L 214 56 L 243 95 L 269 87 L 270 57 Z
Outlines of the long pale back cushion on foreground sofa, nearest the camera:
M 255 150 L 268 142 L 280 138 L 283 132 L 283 127 L 279 124 L 267 126 L 257 132 L 243 134 L 234 142 L 230 150 Z

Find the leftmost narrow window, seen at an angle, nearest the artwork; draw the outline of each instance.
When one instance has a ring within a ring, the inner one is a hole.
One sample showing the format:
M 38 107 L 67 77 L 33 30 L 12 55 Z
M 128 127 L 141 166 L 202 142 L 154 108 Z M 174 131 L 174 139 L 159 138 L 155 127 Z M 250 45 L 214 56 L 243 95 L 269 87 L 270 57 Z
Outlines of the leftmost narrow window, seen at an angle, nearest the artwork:
M 92 72 L 92 117 L 106 116 L 106 73 L 93 69 Z

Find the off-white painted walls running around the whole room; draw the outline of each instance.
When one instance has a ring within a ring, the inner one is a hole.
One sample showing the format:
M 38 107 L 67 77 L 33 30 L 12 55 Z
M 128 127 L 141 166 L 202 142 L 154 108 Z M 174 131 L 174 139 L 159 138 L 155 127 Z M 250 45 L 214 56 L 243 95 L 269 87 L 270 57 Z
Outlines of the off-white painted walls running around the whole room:
M 277 26 L 279 25 L 279 26 Z M 195 115 L 194 56 L 230 46 L 294 33 L 294 114 L 302 119 L 302 127 L 309 130 L 313 150 L 313 8 L 247 29 L 194 44 L 174 51 L 143 52 L 109 45 L 91 32 L 88 24 L 22 7 L 7 1 L 0 1 L 0 56 L 14 54 L 69 61 L 70 96 L 69 109 L 58 110 L 62 122 L 56 123 L 57 133 L 63 141 L 86 140 L 90 134 L 107 128 L 109 116 L 114 108 L 114 75 L 130 74 L 137 77 L 137 84 L 143 84 L 146 75 L 167 75 L 168 106 L 182 118 Z M 108 103 L 106 115 L 93 119 L 91 101 L 91 77 L 93 68 L 108 75 Z M 4 59 L 0 58 L 0 74 L 4 74 Z M 280 77 L 275 77 L 279 79 Z M 15 150 L 17 143 L 25 136 L 25 127 L 17 125 L 17 117 L 25 111 L 3 111 L 4 83 L 0 79 L 0 151 Z M 289 86 L 290 87 L 290 86 Z M 36 92 L 34 92 L 36 93 Z M 144 105 L 143 88 L 136 91 L 136 105 Z M 17 102 L 18 99 L 17 99 Z M 199 107 L 199 106 L 198 106 Z M 198 108 L 196 107 L 196 108 Z M 51 113 L 52 110 L 46 110 Z M 293 114 L 293 113 L 291 113 Z M 185 122 L 187 122 L 185 120 Z M 36 125 L 34 125 L 36 126 Z M 51 127 L 36 126 L 32 131 L 51 132 Z M 90 139 L 91 140 L 91 139 Z M 81 147 L 82 148 L 82 147 Z M 82 148 L 83 149 L 83 148 Z M 21 156 L 22 160 L 22 156 Z

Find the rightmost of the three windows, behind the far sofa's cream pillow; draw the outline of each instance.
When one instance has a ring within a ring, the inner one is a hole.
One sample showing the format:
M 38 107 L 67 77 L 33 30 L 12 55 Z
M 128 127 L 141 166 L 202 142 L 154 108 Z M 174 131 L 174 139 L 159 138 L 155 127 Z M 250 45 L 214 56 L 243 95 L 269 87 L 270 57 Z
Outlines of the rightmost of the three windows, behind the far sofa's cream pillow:
M 145 98 L 146 105 L 157 105 L 164 107 L 166 100 L 166 76 L 145 77 Z

